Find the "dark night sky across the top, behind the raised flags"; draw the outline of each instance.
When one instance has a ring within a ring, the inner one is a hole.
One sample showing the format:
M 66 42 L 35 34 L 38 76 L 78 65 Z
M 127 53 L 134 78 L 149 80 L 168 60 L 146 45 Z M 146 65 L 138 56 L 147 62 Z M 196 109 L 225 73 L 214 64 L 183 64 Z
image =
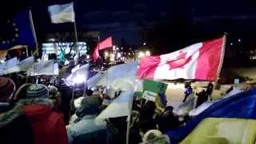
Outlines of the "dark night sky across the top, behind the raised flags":
M 14 3 L 19 1 L 10 0 Z M 43 39 L 45 34 L 54 31 L 73 30 L 70 23 L 50 24 L 47 6 L 65 2 L 69 0 L 27 2 L 32 6 L 39 38 Z M 177 22 L 174 30 L 170 31 L 170 37 L 179 32 L 186 34 L 187 31 L 191 36 L 186 38 L 226 31 L 234 38 L 246 38 L 254 37 L 256 32 L 256 5 L 250 1 L 76 0 L 75 3 L 78 31 L 99 30 L 101 38 L 111 35 L 115 42 L 124 38 L 129 44 L 141 43 L 141 30 L 150 29 L 158 22 Z

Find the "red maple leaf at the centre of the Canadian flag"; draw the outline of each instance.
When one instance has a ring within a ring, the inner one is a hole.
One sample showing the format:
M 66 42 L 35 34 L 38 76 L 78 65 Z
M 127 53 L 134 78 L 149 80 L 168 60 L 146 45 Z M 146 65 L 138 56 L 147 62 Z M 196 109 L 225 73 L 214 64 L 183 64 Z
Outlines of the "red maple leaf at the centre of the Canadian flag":
M 180 51 L 178 57 L 174 60 L 166 62 L 171 69 L 183 68 L 188 62 L 192 60 L 192 56 L 186 58 L 186 52 Z

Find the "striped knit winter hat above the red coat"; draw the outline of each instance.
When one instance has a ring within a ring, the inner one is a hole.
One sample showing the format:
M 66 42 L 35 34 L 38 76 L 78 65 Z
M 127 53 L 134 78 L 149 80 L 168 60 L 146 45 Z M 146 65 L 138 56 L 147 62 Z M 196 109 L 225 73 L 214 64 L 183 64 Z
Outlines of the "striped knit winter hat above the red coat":
M 49 98 L 49 90 L 42 84 L 34 84 L 26 90 L 26 98 Z

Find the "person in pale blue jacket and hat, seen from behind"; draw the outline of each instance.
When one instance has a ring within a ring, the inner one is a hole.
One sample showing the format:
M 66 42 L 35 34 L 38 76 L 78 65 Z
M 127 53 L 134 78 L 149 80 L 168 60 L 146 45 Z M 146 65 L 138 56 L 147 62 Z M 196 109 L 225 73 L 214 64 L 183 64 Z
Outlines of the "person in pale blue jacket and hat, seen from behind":
M 66 126 L 70 144 L 108 143 L 106 122 L 96 119 L 99 107 L 99 98 L 97 97 L 91 96 L 82 99 L 81 106 L 76 110 L 78 119 Z

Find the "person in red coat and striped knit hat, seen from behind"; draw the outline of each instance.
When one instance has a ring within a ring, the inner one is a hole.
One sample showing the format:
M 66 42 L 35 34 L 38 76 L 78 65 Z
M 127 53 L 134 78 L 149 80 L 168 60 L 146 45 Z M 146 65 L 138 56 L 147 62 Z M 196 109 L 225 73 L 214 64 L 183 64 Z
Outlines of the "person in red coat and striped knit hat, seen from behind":
M 34 84 L 25 86 L 26 98 L 18 101 L 22 113 L 32 125 L 35 144 L 67 144 L 66 126 L 62 114 L 52 110 L 53 102 L 49 98 L 46 86 Z

